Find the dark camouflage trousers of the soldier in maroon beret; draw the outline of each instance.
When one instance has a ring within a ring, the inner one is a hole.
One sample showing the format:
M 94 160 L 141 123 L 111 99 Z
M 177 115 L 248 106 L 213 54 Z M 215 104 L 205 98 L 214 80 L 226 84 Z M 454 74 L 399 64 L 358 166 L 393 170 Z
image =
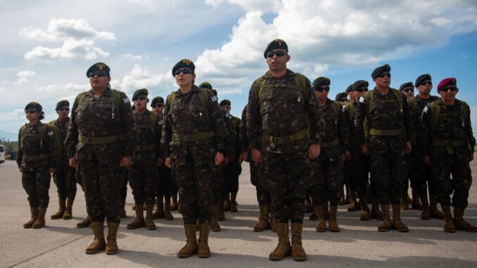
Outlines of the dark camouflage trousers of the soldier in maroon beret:
M 452 155 L 447 154 L 445 148 L 433 148 L 431 163 L 438 203 L 452 205 L 454 208 L 467 208 L 472 185 L 469 160 L 470 152 L 466 148 L 454 147 Z

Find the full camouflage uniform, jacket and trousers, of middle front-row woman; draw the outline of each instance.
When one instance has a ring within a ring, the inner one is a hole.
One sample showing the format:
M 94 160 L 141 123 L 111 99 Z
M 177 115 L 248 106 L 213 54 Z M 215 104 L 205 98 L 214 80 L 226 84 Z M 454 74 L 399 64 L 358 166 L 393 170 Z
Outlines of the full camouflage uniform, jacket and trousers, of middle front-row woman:
M 208 107 L 203 107 L 201 90 L 205 89 L 193 85 L 187 94 L 180 90 L 173 92 L 174 100 L 167 101 L 164 110 L 161 146 L 165 157 L 171 158 L 184 224 L 196 224 L 197 220 L 210 224 L 217 174 L 215 155 L 224 151 L 227 133 L 217 98 L 207 91 Z M 210 119 L 206 118 L 207 114 Z

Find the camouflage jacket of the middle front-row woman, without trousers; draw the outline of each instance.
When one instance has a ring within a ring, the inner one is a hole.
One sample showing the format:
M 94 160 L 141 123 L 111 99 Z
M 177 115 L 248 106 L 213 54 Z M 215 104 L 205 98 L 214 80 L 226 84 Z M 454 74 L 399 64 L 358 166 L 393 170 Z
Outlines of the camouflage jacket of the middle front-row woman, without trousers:
M 163 139 L 161 140 L 161 146 L 163 147 L 164 155 L 166 158 L 170 155 L 171 146 L 177 146 L 180 148 L 186 148 L 186 144 L 196 146 L 201 144 L 202 141 L 185 141 L 181 144 L 181 141 L 174 141 L 172 134 L 197 134 L 199 132 L 214 132 L 215 136 L 212 139 L 215 141 L 215 148 L 211 150 L 224 153 L 224 139 L 227 136 L 227 129 L 224 125 L 222 117 L 222 109 L 217 103 L 217 97 L 212 94 L 212 91 L 207 91 L 208 95 L 208 113 L 205 113 L 202 101 L 198 94 L 201 92 L 195 84 L 192 85 L 192 89 L 187 94 L 182 94 L 180 89 L 174 91 L 175 98 L 172 103 L 166 101 L 164 109 L 164 127 L 163 127 Z M 210 120 L 206 118 L 207 114 L 210 116 Z M 182 146 L 181 146 L 182 145 Z

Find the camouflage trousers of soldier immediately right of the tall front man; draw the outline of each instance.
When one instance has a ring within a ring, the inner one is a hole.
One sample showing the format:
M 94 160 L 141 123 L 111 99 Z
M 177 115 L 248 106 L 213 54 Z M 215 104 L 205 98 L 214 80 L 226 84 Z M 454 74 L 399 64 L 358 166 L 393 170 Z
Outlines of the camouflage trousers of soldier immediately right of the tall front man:
M 308 188 L 314 205 L 338 205 L 343 189 L 344 170 L 341 158 L 330 158 L 326 150 L 313 160 L 313 179 Z

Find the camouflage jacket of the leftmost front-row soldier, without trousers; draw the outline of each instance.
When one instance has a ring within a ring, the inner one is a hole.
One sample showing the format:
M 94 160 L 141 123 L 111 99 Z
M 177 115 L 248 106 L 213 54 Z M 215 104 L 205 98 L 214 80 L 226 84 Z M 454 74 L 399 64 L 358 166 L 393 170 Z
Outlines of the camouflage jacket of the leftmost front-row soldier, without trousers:
M 132 116 L 131 103 L 126 94 L 107 88 L 103 95 L 95 97 L 93 89 L 84 91 L 75 99 L 72 106 L 71 122 L 68 127 L 65 148 L 68 157 L 77 160 L 110 159 L 110 155 L 120 154 L 132 158 L 136 148 L 136 124 Z M 119 94 L 116 104 L 113 94 Z M 119 107 L 117 107 L 119 106 Z M 83 137 L 119 137 L 113 143 L 79 142 Z

